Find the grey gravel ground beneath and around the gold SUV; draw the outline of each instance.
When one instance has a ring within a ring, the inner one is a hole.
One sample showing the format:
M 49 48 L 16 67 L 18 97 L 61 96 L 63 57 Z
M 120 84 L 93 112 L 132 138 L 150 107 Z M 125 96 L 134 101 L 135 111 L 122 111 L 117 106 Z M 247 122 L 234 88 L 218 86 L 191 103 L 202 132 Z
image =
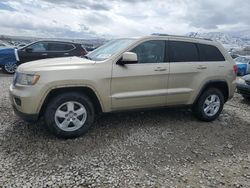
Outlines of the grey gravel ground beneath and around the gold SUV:
M 108 114 L 62 140 L 11 109 L 0 74 L 0 187 L 250 187 L 250 103 L 236 94 L 213 123 L 189 110 Z

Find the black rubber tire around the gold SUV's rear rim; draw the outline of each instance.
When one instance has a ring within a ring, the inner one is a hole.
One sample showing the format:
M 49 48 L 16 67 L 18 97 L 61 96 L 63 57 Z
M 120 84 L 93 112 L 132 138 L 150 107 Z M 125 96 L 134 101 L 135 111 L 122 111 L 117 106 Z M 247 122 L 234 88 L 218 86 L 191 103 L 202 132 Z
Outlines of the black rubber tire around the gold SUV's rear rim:
M 220 107 L 219 110 L 217 111 L 216 114 L 214 114 L 213 116 L 208 116 L 205 112 L 204 112 L 204 103 L 205 100 L 211 96 L 211 95 L 216 95 L 219 97 L 220 100 Z M 209 88 L 207 90 L 205 90 L 201 96 L 199 97 L 198 101 L 195 103 L 195 105 L 193 106 L 193 113 L 194 115 L 202 121 L 206 121 L 206 122 L 210 122 L 210 121 L 214 121 L 215 119 L 217 119 L 221 113 L 221 111 L 223 110 L 223 106 L 224 106 L 224 96 L 222 94 L 222 92 L 219 89 L 216 88 Z

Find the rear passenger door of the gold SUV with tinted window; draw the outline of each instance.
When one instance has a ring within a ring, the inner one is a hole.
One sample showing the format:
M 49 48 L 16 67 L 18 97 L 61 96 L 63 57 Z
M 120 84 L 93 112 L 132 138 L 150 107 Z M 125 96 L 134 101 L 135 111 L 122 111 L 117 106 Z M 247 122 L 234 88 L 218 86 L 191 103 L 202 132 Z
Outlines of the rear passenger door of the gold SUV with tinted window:
M 170 74 L 168 83 L 168 105 L 188 103 L 197 82 L 200 81 L 199 53 L 195 43 L 181 40 L 169 41 Z

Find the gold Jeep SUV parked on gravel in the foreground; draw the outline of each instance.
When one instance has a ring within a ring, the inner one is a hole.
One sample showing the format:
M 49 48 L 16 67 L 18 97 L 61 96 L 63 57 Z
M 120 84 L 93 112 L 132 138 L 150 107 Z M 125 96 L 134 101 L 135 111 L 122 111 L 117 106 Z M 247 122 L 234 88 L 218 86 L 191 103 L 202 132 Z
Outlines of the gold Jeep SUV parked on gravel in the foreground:
M 19 116 L 44 116 L 56 136 L 88 131 L 95 115 L 186 105 L 213 121 L 234 95 L 237 66 L 217 42 L 178 36 L 117 39 L 85 58 L 18 67 L 10 99 Z

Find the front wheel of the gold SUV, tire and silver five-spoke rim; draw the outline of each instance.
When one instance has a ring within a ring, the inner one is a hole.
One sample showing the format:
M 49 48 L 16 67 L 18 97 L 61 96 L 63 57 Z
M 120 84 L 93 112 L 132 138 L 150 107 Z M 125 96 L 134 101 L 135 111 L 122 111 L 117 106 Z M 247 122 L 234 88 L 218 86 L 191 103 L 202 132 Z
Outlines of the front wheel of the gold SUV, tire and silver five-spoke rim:
M 53 98 L 46 109 L 45 121 L 57 137 L 75 138 L 86 133 L 94 121 L 91 100 L 81 93 L 64 93 Z

